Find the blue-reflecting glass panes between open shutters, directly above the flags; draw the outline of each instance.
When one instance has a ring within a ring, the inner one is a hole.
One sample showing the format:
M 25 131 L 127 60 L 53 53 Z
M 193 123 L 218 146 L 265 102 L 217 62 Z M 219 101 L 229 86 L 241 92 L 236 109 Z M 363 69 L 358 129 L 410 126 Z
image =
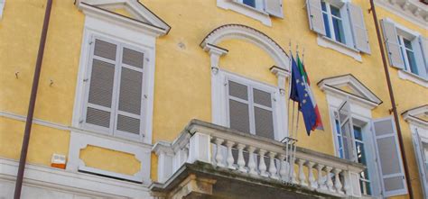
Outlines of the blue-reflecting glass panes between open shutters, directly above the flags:
M 325 2 L 321 2 L 321 7 L 326 36 L 334 41 L 346 44 L 340 9 Z

